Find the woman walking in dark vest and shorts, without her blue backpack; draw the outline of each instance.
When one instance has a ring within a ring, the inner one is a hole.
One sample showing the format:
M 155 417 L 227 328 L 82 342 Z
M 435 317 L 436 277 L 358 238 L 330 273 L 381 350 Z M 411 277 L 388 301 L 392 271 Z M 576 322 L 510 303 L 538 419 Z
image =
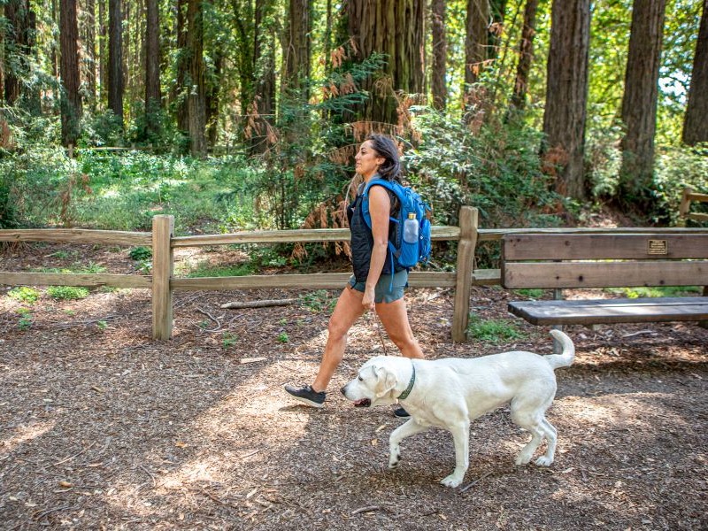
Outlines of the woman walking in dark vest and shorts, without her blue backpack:
M 357 173 L 364 178 L 364 182 L 359 186 L 356 200 L 347 209 L 354 274 L 339 296 L 335 312 L 329 319 L 327 345 L 315 381 L 312 385 L 299 388 L 285 386 L 290 395 L 313 407 L 324 404 L 327 385 L 344 356 L 347 333 L 354 321 L 367 310 L 376 312 L 389 338 L 404 357 L 423 358 L 405 309 L 404 287 L 408 282 L 408 271 L 390 270 L 389 235 L 396 230 L 390 217 L 392 212 L 396 212 L 396 196 L 381 186 L 374 185 L 369 189 L 371 229 L 366 225 L 361 211 L 362 191 L 366 183 L 376 178 L 398 179 L 401 165 L 396 144 L 387 136 L 369 135 L 359 147 L 355 160 Z M 403 408 L 398 408 L 395 414 L 408 416 Z

